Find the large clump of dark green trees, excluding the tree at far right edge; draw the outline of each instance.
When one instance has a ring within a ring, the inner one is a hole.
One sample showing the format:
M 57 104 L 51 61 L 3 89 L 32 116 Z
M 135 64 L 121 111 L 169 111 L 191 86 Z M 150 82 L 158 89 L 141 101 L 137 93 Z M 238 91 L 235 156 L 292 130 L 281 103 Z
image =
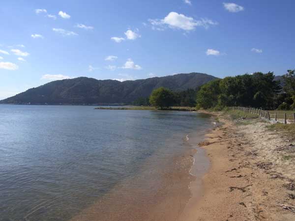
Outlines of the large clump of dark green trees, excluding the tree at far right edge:
M 201 86 L 197 93 L 197 107 L 222 108 L 244 106 L 274 109 L 280 91 L 273 72 L 237 75 L 218 79 Z

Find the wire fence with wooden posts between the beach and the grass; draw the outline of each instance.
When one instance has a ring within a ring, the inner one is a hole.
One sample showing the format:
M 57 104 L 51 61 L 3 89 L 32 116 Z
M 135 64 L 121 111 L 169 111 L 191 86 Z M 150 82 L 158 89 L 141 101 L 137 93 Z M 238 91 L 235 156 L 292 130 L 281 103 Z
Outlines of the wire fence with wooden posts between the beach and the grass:
M 233 107 L 233 110 L 244 111 L 245 113 L 257 114 L 261 118 L 284 124 L 295 123 L 295 112 L 292 111 L 266 111 L 257 108 Z

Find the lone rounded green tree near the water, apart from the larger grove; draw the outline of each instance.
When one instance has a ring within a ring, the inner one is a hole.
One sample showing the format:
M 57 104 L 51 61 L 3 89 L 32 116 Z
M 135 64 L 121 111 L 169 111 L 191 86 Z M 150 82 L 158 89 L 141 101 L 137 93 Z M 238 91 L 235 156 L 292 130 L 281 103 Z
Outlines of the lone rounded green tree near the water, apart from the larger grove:
M 159 87 L 151 92 L 149 103 L 160 110 L 170 108 L 175 104 L 174 93 L 165 87 Z

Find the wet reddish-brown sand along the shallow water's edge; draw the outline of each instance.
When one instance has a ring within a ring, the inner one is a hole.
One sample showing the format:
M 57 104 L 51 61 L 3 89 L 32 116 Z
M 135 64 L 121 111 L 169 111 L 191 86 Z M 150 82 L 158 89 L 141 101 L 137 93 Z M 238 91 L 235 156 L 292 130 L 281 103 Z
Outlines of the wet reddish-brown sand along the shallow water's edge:
M 184 138 L 186 146 L 180 148 L 185 151 L 171 159 L 164 172 L 149 174 L 152 171 L 143 167 L 138 176 L 117 185 L 71 221 L 177 221 L 192 196 L 190 184 L 196 176 L 201 181 L 209 167 L 205 152 L 195 148 L 204 135 L 191 136 Z M 201 185 L 193 187 L 198 188 Z

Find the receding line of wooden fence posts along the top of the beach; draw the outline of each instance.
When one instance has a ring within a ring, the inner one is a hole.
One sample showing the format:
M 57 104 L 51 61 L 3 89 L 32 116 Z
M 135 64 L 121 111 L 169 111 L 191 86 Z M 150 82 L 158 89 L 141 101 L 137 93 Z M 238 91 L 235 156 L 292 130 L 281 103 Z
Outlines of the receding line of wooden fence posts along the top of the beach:
M 257 109 L 257 108 L 246 108 L 246 107 L 233 107 L 233 110 L 238 110 L 238 111 L 244 111 L 245 113 L 251 113 L 251 114 L 257 114 L 261 118 L 267 119 L 267 120 L 275 120 L 276 122 L 279 122 L 278 119 L 284 119 L 284 124 L 287 124 L 288 122 L 288 117 L 290 116 L 293 123 L 295 123 L 295 113 L 293 114 L 287 114 L 282 113 L 280 114 L 279 111 L 274 111 L 274 113 L 269 113 L 269 111 L 263 110 L 263 109 Z M 280 118 L 280 116 L 283 116 Z

